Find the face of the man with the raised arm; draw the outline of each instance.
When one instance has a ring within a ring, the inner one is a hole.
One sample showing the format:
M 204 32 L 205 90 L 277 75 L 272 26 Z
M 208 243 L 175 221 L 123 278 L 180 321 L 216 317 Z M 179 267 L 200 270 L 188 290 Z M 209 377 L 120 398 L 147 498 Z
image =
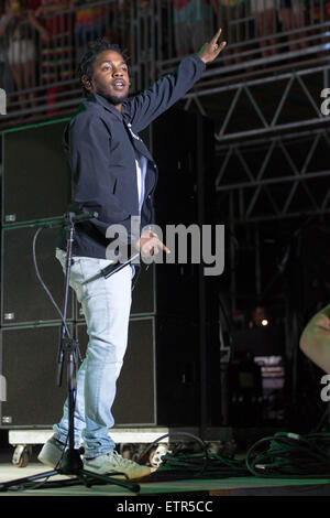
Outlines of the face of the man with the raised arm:
M 120 110 L 130 89 L 129 69 L 122 55 L 116 51 L 101 52 L 94 63 L 88 89 L 106 97 Z

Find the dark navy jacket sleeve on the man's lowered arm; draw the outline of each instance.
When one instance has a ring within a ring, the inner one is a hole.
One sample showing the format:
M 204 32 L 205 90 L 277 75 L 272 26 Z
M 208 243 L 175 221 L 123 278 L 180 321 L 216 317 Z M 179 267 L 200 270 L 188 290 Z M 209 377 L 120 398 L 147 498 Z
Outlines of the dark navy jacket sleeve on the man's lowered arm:
M 112 224 L 123 225 L 130 239 L 131 216 L 113 194 L 110 168 L 111 133 L 98 115 L 82 112 L 73 119 L 68 132 L 73 172 L 74 212 L 97 212 L 92 224 L 106 236 Z

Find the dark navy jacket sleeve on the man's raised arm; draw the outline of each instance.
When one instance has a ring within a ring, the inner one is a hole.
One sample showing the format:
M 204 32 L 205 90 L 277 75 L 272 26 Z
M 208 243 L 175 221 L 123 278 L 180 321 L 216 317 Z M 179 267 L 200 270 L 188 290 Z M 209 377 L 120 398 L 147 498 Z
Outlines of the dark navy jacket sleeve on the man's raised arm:
M 122 112 L 130 119 L 133 131 L 139 133 L 179 100 L 201 77 L 205 68 L 206 64 L 198 55 L 185 57 L 172 74 L 125 102 Z

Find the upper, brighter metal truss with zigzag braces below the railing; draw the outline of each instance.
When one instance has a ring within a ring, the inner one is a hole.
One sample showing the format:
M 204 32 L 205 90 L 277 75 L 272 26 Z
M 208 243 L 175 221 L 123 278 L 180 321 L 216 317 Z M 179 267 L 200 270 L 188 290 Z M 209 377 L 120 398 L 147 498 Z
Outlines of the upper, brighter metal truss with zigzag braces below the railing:
M 329 87 L 330 64 L 252 80 L 201 88 L 185 96 L 217 123 L 220 144 L 255 136 L 328 125 L 321 91 Z M 244 117 L 249 116 L 249 117 Z

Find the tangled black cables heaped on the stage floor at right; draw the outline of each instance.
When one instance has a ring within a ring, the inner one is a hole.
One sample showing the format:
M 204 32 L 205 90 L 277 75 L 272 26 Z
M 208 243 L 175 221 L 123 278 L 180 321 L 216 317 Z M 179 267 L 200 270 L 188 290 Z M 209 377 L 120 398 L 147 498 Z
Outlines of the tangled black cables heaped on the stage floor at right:
M 168 435 L 162 435 L 154 441 L 143 454 Z M 255 442 L 243 460 L 208 453 L 205 443 L 195 435 L 184 432 L 173 435 L 193 438 L 202 445 L 204 454 L 174 452 L 163 455 L 156 476 L 167 474 L 180 478 L 219 478 L 246 477 L 252 474 L 256 477 L 282 479 L 330 477 L 329 433 L 299 435 L 279 432 Z

